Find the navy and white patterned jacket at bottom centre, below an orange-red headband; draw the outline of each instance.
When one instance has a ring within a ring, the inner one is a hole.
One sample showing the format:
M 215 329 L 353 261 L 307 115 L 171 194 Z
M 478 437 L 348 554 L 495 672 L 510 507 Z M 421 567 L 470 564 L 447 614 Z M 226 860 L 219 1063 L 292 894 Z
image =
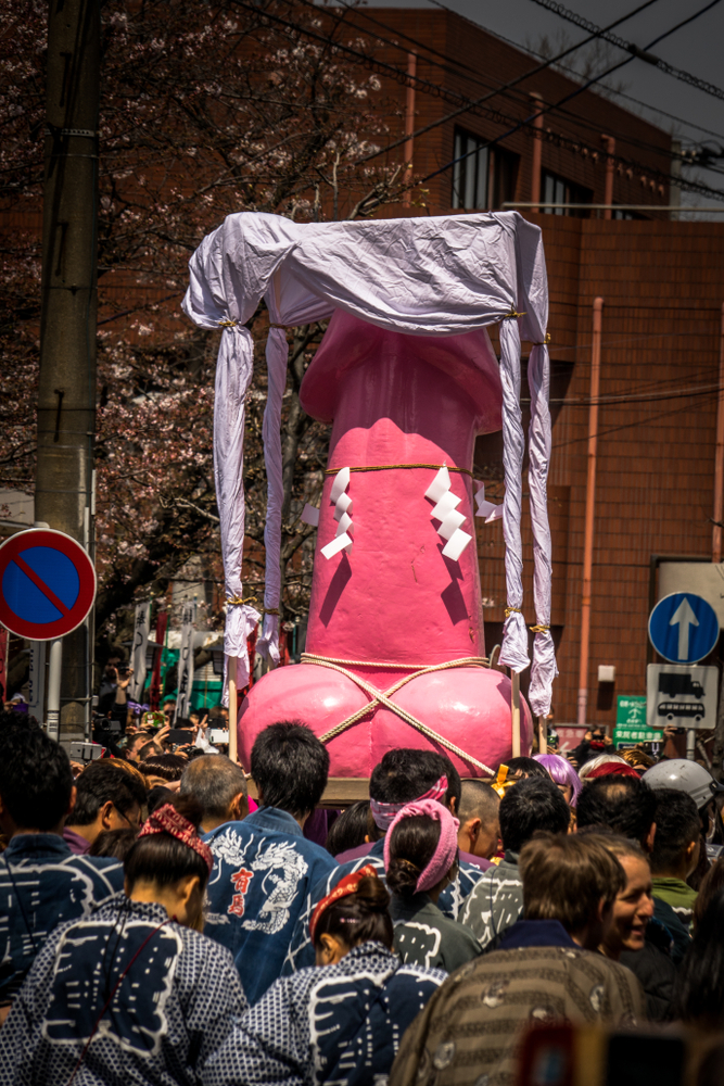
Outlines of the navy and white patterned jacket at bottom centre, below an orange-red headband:
M 363 943 L 274 984 L 240 1023 L 244 1086 L 384 1083 L 399 1041 L 447 973 Z

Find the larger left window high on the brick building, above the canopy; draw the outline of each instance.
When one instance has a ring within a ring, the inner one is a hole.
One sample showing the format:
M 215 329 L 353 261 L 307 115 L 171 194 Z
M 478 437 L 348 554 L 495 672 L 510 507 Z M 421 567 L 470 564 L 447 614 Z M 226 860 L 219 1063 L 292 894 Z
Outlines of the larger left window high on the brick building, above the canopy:
M 486 143 L 456 128 L 453 207 L 486 211 L 515 198 L 518 155 Z

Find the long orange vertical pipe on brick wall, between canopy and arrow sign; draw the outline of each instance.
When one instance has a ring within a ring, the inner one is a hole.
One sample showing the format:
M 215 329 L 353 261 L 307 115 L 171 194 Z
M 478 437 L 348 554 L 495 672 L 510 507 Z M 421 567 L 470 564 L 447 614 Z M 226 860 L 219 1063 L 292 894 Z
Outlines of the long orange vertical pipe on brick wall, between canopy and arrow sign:
M 583 591 L 581 593 L 581 655 L 579 658 L 579 728 L 586 723 L 588 708 L 588 656 L 590 651 L 590 583 L 594 563 L 594 514 L 596 507 L 596 459 L 598 455 L 598 391 L 601 367 L 604 299 L 594 299 L 594 336 L 590 350 L 590 407 L 588 409 L 588 477 L 586 520 L 583 534 Z

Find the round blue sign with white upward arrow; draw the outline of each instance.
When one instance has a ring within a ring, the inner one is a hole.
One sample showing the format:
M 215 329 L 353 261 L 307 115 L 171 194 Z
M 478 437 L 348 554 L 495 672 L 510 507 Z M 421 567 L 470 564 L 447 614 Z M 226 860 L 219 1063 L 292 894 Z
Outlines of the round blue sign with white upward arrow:
M 659 656 L 672 664 L 696 664 L 719 641 L 719 619 L 711 604 L 693 592 L 672 592 L 649 618 L 649 637 Z

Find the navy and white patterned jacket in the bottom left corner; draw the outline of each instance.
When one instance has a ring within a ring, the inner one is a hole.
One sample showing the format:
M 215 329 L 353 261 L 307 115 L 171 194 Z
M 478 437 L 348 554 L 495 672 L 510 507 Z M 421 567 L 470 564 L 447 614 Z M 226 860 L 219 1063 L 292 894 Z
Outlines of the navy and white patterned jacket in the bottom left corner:
M 228 950 L 117 894 L 49 936 L 0 1030 L 0 1086 L 238 1086 Z

